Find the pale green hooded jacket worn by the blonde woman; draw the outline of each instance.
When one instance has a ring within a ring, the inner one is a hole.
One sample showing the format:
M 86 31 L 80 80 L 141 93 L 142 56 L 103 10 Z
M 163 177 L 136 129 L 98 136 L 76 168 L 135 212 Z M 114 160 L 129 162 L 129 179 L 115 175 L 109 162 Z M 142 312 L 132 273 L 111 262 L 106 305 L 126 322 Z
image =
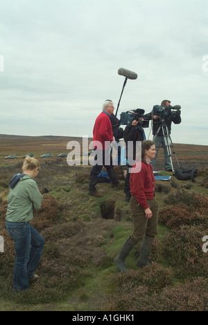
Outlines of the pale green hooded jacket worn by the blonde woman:
M 15 174 L 10 181 L 8 194 L 8 222 L 30 222 L 33 219 L 33 207 L 40 209 L 43 196 L 37 183 L 27 174 Z

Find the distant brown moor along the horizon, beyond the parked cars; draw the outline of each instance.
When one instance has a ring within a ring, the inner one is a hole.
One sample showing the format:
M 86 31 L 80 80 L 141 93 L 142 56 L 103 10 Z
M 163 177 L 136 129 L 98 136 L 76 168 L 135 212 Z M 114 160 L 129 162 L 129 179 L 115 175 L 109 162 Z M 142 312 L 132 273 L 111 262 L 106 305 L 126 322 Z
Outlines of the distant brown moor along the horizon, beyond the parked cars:
M 58 135 L 42 135 L 42 136 L 24 136 L 24 135 L 6 135 L 0 134 L 0 159 L 5 160 L 5 156 L 17 154 L 18 158 L 34 153 L 36 157 L 40 157 L 44 153 L 51 153 L 53 157 L 59 153 L 69 153 L 67 144 L 70 141 L 77 141 L 82 145 L 83 138 L 73 136 L 58 136 Z M 89 138 L 92 142 L 92 138 Z M 196 144 L 174 144 L 175 153 L 180 162 L 193 164 L 203 167 L 208 165 L 208 146 Z M 162 161 L 164 155 L 162 148 L 160 149 L 157 161 Z M 173 154 L 173 160 L 174 154 Z M 192 162 L 192 163 L 191 163 Z

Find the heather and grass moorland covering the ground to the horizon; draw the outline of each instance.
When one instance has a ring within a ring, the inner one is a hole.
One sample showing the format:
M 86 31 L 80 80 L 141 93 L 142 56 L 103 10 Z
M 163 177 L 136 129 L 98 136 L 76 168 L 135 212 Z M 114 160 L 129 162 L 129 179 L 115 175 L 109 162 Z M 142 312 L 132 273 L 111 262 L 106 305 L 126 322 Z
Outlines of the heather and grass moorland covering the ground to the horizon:
M 208 146 L 175 144 L 182 167 L 197 167 L 196 182 L 178 181 L 163 171 L 162 151 L 156 169 L 170 181 L 156 181 L 159 234 L 150 255 L 151 266 L 136 266 L 139 245 L 126 260 L 128 271 L 119 274 L 114 257 L 132 232 L 129 203 L 123 193 L 121 167 L 115 167 L 120 184 L 99 183 L 102 198 L 89 197 L 91 166 L 69 166 L 67 143 L 82 138 L 0 135 L 0 310 L 33 311 L 207 311 L 208 252 L 202 238 L 208 235 Z M 36 181 L 48 188 L 33 225 L 46 240 L 37 269 L 39 281 L 28 292 L 12 291 L 15 250 L 6 233 L 8 183 L 21 172 L 23 156 L 40 160 Z M 40 158 L 51 153 L 51 158 Z M 17 154 L 16 160 L 5 157 Z M 173 157 L 175 165 L 175 159 Z M 208 244 L 207 244 L 208 246 Z

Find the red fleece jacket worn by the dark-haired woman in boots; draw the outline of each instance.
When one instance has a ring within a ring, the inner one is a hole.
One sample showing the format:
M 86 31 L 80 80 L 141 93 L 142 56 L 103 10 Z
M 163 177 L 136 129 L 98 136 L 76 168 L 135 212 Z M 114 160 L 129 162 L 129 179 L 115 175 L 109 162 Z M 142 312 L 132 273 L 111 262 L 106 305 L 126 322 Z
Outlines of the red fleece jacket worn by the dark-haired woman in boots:
M 154 199 L 155 197 L 155 176 L 153 167 L 147 163 L 137 162 L 134 167 L 141 170 L 138 173 L 130 174 L 130 192 L 137 199 L 138 203 L 144 210 L 148 208 L 146 199 Z

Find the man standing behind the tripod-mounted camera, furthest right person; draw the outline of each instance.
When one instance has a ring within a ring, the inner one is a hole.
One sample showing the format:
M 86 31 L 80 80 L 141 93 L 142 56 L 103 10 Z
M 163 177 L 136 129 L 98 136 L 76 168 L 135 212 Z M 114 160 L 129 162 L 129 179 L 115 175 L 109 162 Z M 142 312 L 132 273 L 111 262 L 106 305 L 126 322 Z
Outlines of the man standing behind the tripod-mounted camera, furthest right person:
M 171 134 L 171 123 L 173 122 L 174 124 L 180 124 L 181 122 L 181 117 L 180 115 L 173 115 L 171 113 L 171 108 L 172 106 L 170 106 L 171 101 L 168 101 L 168 99 L 164 99 L 164 101 L 162 101 L 161 106 L 164 107 L 166 106 L 166 110 L 170 110 L 170 118 L 166 119 L 166 126 L 168 128 L 168 132 L 169 134 Z M 154 112 L 153 112 L 154 113 Z M 156 159 L 157 159 L 157 155 L 159 152 L 159 148 L 162 145 L 163 149 L 164 149 L 164 159 L 165 159 L 165 170 L 166 172 L 173 172 L 172 169 L 172 165 L 171 165 L 171 158 L 168 155 L 168 151 L 166 148 L 166 143 L 164 140 L 164 135 L 162 132 L 162 128 L 159 127 L 162 125 L 162 120 L 161 117 L 157 116 L 157 115 L 153 115 L 153 141 L 155 143 L 155 148 L 156 148 L 156 156 L 153 160 L 151 160 L 151 165 L 153 166 L 153 169 L 155 167 L 155 163 L 156 163 Z

